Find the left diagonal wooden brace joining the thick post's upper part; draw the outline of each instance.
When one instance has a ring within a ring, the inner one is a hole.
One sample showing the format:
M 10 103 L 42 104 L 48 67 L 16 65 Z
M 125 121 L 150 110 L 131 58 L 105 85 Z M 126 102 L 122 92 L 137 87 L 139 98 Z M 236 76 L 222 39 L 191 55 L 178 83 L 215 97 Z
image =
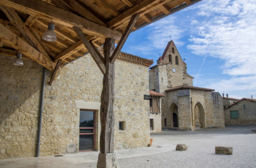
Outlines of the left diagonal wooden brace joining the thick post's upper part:
M 102 55 L 100 54 L 100 52 L 97 51 L 96 47 L 92 44 L 92 42 L 90 43 L 86 39 L 86 36 L 84 35 L 84 33 L 82 32 L 82 30 L 79 27 L 74 26 L 73 30 L 76 32 L 77 36 L 82 41 L 82 43 L 84 44 L 84 46 L 86 47 L 88 52 L 91 54 L 92 58 L 96 62 L 97 66 L 99 67 L 101 72 L 103 74 L 105 74 L 106 73 L 106 67 L 104 65 L 104 62 L 102 62 L 102 59 L 101 59 Z

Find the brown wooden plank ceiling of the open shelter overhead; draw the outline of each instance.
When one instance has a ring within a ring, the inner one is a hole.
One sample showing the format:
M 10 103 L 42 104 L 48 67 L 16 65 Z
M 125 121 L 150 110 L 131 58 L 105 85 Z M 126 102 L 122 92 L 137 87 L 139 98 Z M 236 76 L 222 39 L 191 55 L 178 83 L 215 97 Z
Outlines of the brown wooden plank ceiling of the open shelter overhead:
M 46 3 L 45 3 L 46 2 Z M 140 14 L 133 30 L 144 22 L 160 14 L 169 14 L 170 9 L 180 4 L 190 4 L 190 0 L 1 0 L 2 6 L 11 7 L 24 21 L 24 24 L 35 36 L 45 55 L 53 62 L 62 58 L 62 63 L 76 60 L 84 55 L 87 49 L 72 29 L 77 26 L 82 29 L 88 40 L 96 47 L 101 47 L 106 37 L 112 37 L 119 42 L 122 34 L 134 14 Z M 56 25 L 56 42 L 46 42 L 42 35 L 53 19 Z M 24 39 L 20 30 L 1 17 L 0 23 Z M 11 46 L 5 43 L 2 47 Z M 0 46 L 1 47 L 1 46 Z

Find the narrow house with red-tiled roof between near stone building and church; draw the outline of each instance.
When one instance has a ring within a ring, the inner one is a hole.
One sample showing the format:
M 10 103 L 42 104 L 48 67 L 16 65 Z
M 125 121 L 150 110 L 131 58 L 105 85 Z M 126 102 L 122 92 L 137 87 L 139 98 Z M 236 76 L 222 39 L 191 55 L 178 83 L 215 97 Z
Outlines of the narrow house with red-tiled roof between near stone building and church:
M 161 102 L 162 98 L 165 95 L 157 93 L 155 91 L 149 90 L 150 95 L 150 133 L 160 133 L 162 132 L 162 125 L 161 125 Z

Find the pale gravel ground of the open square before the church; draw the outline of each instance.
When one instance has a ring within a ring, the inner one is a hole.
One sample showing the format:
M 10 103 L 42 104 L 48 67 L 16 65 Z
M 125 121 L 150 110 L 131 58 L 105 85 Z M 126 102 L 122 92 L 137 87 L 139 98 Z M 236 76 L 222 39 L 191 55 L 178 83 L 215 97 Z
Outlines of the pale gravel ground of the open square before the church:
M 197 129 L 183 132 L 164 130 L 150 135 L 153 145 L 167 152 L 118 159 L 122 168 L 131 167 L 256 167 L 256 126 L 227 126 L 225 129 Z M 187 144 L 187 151 L 175 151 L 177 144 Z M 215 154 L 215 146 L 233 147 L 233 155 Z M 143 150 L 143 149 L 142 149 Z M 96 162 L 79 164 L 96 167 Z

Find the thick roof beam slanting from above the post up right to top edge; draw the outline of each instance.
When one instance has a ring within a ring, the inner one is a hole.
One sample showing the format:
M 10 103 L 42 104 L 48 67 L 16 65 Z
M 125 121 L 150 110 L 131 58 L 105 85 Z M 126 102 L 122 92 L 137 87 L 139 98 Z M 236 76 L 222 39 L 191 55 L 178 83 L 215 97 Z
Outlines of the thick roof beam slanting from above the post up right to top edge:
M 147 7 L 152 6 L 152 3 L 155 1 L 158 1 L 158 0 L 146 0 L 146 1 L 140 2 L 139 4 L 127 10 L 126 12 L 120 14 L 119 16 L 109 21 L 107 23 L 107 26 L 116 27 L 122 22 L 126 21 L 127 19 L 130 19 L 134 14 L 145 14 L 145 11 L 147 11 Z

